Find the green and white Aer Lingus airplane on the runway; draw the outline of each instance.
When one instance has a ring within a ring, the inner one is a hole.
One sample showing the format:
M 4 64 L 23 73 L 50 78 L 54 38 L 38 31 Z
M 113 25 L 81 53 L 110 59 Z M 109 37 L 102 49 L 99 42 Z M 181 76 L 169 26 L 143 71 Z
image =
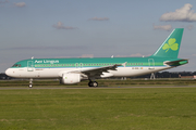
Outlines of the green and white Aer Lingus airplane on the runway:
M 58 78 L 60 83 L 73 84 L 89 80 L 89 87 L 98 87 L 96 79 L 108 77 L 134 77 L 177 67 L 188 63 L 179 58 L 184 28 L 175 28 L 159 49 L 147 57 L 86 57 L 86 58 L 29 58 L 15 63 L 5 74 L 15 78 Z

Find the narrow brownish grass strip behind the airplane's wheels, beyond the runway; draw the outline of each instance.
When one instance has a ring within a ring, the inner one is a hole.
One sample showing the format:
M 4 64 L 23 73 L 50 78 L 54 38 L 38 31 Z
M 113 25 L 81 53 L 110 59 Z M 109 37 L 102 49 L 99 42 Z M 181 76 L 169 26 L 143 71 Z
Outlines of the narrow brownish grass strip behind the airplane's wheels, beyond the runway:
M 196 80 L 191 79 L 159 79 L 159 80 L 97 80 L 99 87 L 135 87 L 135 86 L 196 86 Z M 1 80 L 0 87 L 28 87 L 28 80 Z M 87 87 L 88 80 L 77 84 L 60 84 L 58 80 L 35 80 L 34 87 Z

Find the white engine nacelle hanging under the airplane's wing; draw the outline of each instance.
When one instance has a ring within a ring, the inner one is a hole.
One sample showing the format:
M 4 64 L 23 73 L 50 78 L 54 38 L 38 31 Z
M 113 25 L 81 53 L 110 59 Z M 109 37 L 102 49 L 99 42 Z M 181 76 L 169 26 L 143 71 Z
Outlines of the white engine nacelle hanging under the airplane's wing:
M 81 82 L 81 74 L 63 74 L 61 83 L 73 84 Z

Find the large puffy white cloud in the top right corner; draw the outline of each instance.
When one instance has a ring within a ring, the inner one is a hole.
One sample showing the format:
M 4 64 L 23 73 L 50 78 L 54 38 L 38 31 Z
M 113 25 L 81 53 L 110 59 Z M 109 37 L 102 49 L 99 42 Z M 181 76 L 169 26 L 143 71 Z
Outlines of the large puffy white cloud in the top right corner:
M 196 13 L 192 10 L 193 5 L 184 4 L 183 8 L 175 10 L 175 12 L 164 13 L 160 21 L 163 22 L 196 22 Z

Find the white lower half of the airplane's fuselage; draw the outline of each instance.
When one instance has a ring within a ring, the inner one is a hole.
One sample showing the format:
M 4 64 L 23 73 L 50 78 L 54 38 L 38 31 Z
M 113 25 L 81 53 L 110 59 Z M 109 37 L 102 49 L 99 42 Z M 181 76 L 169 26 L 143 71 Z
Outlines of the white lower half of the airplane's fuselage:
M 105 77 L 133 77 L 146 75 L 163 69 L 172 68 L 171 66 L 159 66 L 159 67 L 118 67 L 117 70 L 109 70 L 101 75 Z M 60 78 L 64 73 L 69 72 L 83 72 L 85 68 L 8 68 L 5 74 L 15 78 Z

